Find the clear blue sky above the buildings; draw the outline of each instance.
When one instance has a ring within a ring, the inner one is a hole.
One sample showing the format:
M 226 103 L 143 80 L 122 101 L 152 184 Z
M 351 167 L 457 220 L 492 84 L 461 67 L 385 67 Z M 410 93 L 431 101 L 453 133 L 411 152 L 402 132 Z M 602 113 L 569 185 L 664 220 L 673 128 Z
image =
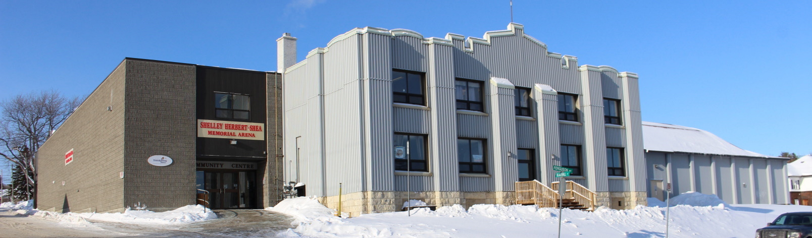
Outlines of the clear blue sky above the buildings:
M 765 155 L 812 152 L 812 2 L 526 1 L 513 21 L 579 64 L 640 74 L 644 121 L 708 130 Z M 276 69 L 356 27 L 482 37 L 508 1 L 2 1 L 0 100 L 87 96 L 124 57 Z

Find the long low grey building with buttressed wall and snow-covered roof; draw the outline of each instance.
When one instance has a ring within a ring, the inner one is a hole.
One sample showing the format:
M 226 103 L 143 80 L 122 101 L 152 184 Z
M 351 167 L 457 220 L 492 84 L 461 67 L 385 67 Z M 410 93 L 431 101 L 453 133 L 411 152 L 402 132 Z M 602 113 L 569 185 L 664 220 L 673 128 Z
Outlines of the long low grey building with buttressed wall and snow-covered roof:
M 789 203 L 787 158 L 743 150 L 705 130 L 648 121 L 643 149 L 650 198 L 663 200 L 671 183 L 672 197 L 696 191 L 730 204 Z M 812 191 L 812 179 L 807 184 Z

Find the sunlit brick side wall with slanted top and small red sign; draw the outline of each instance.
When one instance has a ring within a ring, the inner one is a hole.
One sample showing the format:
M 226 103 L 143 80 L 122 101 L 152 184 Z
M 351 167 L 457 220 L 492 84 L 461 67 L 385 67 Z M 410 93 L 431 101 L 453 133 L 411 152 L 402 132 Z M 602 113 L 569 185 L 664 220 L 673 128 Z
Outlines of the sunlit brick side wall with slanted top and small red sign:
M 37 208 L 123 211 L 124 74 L 119 64 L 40 147 Z M 111 107 L 111 111 L 107 107 Z M 71 164 L 65 153 L 74 150 Z M 64 182 L 64 185 L 63 185 Z

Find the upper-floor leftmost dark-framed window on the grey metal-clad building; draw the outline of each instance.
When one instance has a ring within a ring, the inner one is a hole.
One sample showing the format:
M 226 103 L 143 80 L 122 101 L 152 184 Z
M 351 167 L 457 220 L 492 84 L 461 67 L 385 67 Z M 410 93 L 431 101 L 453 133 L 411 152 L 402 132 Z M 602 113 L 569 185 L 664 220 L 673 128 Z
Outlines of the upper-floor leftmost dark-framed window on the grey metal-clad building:
M 392 100 L 395 103 L 425 106 L 423 73 L 392 70 Z

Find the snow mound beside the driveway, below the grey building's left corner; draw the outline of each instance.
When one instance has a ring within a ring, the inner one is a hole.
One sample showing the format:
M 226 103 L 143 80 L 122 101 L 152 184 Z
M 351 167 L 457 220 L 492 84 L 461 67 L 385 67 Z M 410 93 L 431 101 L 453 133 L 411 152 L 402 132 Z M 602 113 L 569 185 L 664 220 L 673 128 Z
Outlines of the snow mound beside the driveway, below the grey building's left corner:
M 335 210 L 318 203 L 315 198 L 299 197 L 287 198 L 276 206 L 266 207 L 271 210 L 293 217 L 293 224 L 309 222 L 321 217 L 335 217 Z

